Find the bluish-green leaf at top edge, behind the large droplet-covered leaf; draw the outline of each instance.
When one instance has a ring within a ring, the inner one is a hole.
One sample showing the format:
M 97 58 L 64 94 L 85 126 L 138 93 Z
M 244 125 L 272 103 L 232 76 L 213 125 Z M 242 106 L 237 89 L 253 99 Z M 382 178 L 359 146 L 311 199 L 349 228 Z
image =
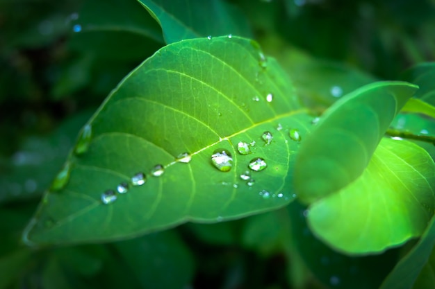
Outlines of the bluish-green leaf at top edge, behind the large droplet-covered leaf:
M 138 0 L 158 21 L 165 42 L 190 38 L 238 35 L 251 37 L 243 12 L 221 0 Z M 186 9 L 188 13 L 186 13 Z

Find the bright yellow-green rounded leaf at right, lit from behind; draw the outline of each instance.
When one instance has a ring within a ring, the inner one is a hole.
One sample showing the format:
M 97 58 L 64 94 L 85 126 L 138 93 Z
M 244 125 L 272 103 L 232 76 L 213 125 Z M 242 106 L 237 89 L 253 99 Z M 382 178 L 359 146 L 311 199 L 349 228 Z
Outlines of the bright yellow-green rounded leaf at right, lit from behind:
M 435 207 L 435 165 L 408 141 L 382 139 L 361 177 L 311 204 L 309 225 L 347 254 L 382 252 L 420 236 Z

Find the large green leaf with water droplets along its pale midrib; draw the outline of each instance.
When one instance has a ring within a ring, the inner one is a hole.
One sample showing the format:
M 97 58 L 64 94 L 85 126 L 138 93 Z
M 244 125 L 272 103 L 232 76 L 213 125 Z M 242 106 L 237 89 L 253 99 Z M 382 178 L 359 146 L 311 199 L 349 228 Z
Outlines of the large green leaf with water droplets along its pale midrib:
M 158 51 L 85 126 L 75 149 L 83 153 L 69 157 L 54 182 L 59 191 L 44 195 L 24 240 L 126 238 L 288 204 L 290 168 L 312 118 L 284 71 L 272 58 L 264 62 L 258 45 L 239 37 L 187 40 Z M 213 166 L 217 149 L 232 156 L 229 172 L 220 160 Z M 177 159 L 184 152 L 189 157 Z M 146 182 L 134 186 L 138 172 Z M 102 195 L 123 182 L 128 193 L 116 200 Z

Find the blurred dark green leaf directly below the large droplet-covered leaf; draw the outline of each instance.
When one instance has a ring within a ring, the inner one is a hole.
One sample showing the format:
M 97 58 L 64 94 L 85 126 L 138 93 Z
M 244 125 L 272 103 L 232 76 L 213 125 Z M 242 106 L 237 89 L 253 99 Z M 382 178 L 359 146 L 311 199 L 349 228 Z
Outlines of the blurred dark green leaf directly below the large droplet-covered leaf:
M 174 231 L 122 241 L 115 247 L 142 288 L 186 288 L 193 277 L 192 256 Z

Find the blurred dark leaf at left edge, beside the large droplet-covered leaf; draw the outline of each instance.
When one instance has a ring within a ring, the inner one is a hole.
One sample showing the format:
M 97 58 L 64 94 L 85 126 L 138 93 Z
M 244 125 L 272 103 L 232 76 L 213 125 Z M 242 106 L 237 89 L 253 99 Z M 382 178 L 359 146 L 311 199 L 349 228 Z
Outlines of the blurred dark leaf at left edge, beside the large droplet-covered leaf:
M 77 132 L 91 115 L 76 114 L 46 137 L 27 137 L 13 155 L 2 157 L 0 204 L 39 198 L 62 168 Z

